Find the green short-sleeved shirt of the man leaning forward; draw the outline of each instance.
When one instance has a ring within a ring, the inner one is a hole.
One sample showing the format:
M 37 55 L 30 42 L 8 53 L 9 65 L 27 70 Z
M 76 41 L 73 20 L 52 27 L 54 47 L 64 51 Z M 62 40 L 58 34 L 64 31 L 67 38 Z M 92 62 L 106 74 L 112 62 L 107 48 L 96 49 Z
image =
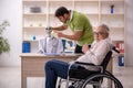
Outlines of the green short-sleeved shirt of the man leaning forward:
M 83 32 L 82 36 L 78 41 L 78 45 L 82 46 L 85 43 L 91 44 L 93 42 L 93 29 L 89 19 L 84 14 L 73 11 L 72 19 L 68 21 L 66 24 L 70 26 L 72 32 Z

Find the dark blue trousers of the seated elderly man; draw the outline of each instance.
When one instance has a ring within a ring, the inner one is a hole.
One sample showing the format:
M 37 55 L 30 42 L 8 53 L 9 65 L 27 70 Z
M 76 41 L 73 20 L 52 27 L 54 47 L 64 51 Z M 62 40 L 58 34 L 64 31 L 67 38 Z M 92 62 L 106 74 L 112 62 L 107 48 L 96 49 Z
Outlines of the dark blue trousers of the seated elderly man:
M 78 68 L 79 65 L 73 65 L 72 68 Z M 58 59 L 51 59 L 45 63 L 45 88 L 55 88 L 58 77 L 66 79 L 69 64 Z

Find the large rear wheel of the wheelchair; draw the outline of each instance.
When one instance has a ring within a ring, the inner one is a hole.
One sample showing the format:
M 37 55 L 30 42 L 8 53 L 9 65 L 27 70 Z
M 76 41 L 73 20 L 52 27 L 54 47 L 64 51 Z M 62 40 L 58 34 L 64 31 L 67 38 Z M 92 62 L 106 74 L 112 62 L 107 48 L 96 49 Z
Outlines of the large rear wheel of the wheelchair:
M 123 88 L 123 86 L 114 76 L 98 74 L 88 77 L 80 88 Z

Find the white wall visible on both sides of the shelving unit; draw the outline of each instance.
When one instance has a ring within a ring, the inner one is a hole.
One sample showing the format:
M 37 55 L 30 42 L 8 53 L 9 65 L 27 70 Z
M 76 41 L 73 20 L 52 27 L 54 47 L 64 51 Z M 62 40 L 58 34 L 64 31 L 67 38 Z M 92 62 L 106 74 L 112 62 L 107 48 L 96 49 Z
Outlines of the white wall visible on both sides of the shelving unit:
M 133 66 L 133 0 L 126 2 L 126 26 L 125 26 L 125 65 Z M 21 0 L 0 0 L 0 23 L 8 20 L 11 24 L 3 36 L 8 38 L 11 51 L 9 54 L 0 55 L 0 66 L 20 66 L 21 32 L 22 32 L 22 3 Z

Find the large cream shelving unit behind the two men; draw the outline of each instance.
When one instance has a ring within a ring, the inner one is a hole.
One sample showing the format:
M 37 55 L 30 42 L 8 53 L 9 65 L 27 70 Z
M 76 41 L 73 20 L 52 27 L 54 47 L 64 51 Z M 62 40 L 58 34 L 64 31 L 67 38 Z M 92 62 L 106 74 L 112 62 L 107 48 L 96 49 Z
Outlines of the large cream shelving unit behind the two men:
M 112 4 L 113 13 L 111 13 Z M 102 23 L 109 25 L 113 42 L 124 41 L 124 0 L 22 0 L 22 41 L 31 42 L 31 45 L 33 44 L 31 50 L 37 51 L 38 40 L 45 35 L 44 28 L 62 24 L 54 16 L 55 10 L 62 6 L 84 13 L 93 29 Z M 32 7 L 40 7 L 41 11 L 32 12 Z M 70 34 L 70 30 L 63 32 Z

